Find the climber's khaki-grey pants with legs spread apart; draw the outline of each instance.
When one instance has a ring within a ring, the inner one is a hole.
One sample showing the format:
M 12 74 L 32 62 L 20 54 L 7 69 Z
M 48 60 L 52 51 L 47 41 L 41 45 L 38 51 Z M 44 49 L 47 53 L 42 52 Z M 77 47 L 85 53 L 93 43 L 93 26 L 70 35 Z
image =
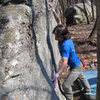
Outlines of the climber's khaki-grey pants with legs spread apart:
M 85 91 L 90 92 L 90 86 L 89 86 L 87 79 L 83 75 L 83 66 L 81 64 L 80 66 L 71 69 L 71 72 L 66 77 L 66 79 L 63 83 L 63 90 L 64 90 L 64 94 L 66 96 L 66 100 L 72 99 L 73 92 L 72 92 L 71 85 L 77 78 L 80 78 L 80 80 L 82 81 Z

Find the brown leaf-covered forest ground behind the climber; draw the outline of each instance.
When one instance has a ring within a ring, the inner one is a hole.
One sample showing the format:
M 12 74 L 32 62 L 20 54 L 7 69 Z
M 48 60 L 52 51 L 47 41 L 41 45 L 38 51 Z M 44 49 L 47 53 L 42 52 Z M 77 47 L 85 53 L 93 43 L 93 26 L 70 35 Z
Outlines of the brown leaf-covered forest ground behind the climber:
M 96 52 L 97 39 L 96 36 L 94 37 L 94 41 L 90 41 L 88 39 L 93 29 L 93 26 L 94 26 L 94 21 L 90 22 L 90 24 L 82 23 L 68 27 L 69 31 L 72 34 L 72 39 L 75 44 L 76 52 L 85 64 L 84 70 L 97 68 L 97 52 Z M 60 75 L 61 84 L 63 83 L 66 74 L 68 74 L 66 73 L 66 70 L 67 69 L 65 69 L 65 71 Z M 74 87 L 76 88 L 77 86 Z M 85 100 L 85 99 L 82 93 L 78 92 L 74 94 L 73 100 Z

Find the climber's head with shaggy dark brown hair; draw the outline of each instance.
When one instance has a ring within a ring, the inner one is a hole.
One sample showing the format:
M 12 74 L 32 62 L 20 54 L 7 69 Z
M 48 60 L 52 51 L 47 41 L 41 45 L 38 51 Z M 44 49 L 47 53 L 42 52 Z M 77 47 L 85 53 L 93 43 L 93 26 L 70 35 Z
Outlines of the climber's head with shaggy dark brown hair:
M 63 39 L 69 39 L 71 37 L 67 26 L 65 27 L 64 25 L 58 24 L 54 30 L 53 33 L 55 34 L 55 39 L 56 40 L 63 40 Z

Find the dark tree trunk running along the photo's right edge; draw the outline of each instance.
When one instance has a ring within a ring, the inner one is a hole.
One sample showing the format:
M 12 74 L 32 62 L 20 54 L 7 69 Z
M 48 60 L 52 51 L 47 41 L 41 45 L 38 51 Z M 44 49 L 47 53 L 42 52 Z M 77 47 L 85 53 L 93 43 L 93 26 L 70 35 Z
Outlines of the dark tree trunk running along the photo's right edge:
M 97 93 L 96 100 L 100 100 L 100 0 L 97 0 L 97 61 L 98 61 L 98 81 L 97 81 Z

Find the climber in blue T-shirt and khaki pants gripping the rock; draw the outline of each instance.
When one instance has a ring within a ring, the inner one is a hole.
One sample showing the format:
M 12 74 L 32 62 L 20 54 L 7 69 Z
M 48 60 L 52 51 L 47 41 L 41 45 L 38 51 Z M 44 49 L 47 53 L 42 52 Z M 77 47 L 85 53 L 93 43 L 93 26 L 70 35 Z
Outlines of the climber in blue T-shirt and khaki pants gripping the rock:
M 58 41 L 60 54 L 62 57 L 62 64 L 54 76 L 54 86 L 57 88 L 59 74 L 62 73 L 68 64 L 70 66 L 70 73 L 68 76 L 66 76 L 62 87 L 66 100 L 71 100 L 73 97 L 71 85 L 77 78 L 80 78 L 84 85 L 84 93 L 90 93 L 90 85 L 83 75 L 83 66 L 81 60 L 75 52 L 74 43 L 67 26 L 62 25 L 61 19 L 57 15 L 51 3 L 49 3 L 49 10 L 53 12 L 55 20 L 58 24 L 54 28 L 53 33 L 55 35 L 55 40 Z

